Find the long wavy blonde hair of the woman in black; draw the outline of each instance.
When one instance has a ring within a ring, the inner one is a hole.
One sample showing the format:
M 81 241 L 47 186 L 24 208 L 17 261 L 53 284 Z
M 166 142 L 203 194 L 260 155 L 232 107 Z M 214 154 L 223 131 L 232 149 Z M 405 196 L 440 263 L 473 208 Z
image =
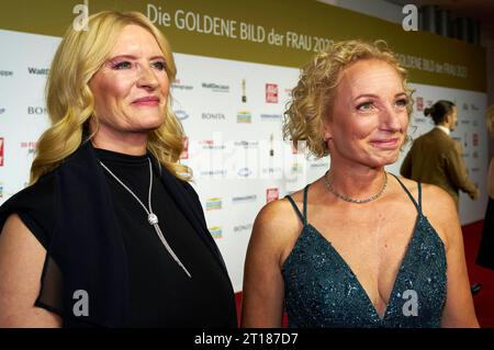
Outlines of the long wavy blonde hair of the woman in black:
M 65 33 L 52 63 L 46 82 L 46 105 L 52 126 L 41 136 L 36 157 L 31 166 L 30 183 L 58 167 L 74 154 L 85 137 L 85 127 L 93 117 L 94 97 L 88 82 L 108 59 L 120 32 L 135 24 L 147 30 L 156 38 L 166 59 L 166 71 L 170 81 L 177 69 L 170 45 L 161 32 L 139 12 L 103 11 L 89 16 L 88 31 L 76 31 L 70 26 Z M 178 161 L 183 150 L 183 129 L 171 110 L 168 95 L 162 125 L 148 137 L 147 148 L 173 176 L 190 180 L 191 170 Z M 98 120 L 94 117 L 96 131 Z

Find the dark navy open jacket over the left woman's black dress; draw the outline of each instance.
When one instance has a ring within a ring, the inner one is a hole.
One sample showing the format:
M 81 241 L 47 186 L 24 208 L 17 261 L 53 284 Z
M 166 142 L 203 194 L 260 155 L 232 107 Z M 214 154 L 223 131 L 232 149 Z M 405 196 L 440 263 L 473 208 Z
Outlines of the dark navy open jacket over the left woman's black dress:
M 210 248 L 224 273 L 227 273 L 220 250 L 211 237 L 198 194 L 192 187 L 178 180 L 151 155 L 153 166 L 161 172 L 164 185 L 170 190 L 177 205 L 189 219 L 195 233 Z M 55 177 L 57 221 L 54 225 L 42 281 L 60 276 L 63 284 L 64 327 L 121 327 L 128 309 L 128 273 L 126 255 L 114 204 L 101 166 L 90 142 L 46 174 Z M 26 195 L 43 179 L 9 199 L 0 206 L 0 230 L 11 213 L 29 211 Z M 193 249 L 193 247 L 191 247 Z M 49 258 L 49 259 L 48 259 Z M 59 272 L 58 272 L 59 269 Z M 170 287 L 173 281 L 170 281 Z M 91 298 L 88 316 L 75 316 L 75 291 L 83 290 Z M 42 283 L 43 291 L 43 283 Z M 40 300 L 37 305 L 49 304 Z M 236 306 L 232 287 L 232 327 L 236 327 Z

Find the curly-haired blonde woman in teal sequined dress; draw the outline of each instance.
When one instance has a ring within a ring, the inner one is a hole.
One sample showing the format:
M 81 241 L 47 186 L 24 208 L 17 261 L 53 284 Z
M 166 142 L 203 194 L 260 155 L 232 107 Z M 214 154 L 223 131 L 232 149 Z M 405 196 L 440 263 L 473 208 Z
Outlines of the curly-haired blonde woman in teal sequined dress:
M 460 223 L 441 189 L 389 174 L 406 139 L 406 70 L 341 42 L 302 71 L 284 135 L 330 156 L 321 179 L 258 214 L 244 327 L 478 327 Z

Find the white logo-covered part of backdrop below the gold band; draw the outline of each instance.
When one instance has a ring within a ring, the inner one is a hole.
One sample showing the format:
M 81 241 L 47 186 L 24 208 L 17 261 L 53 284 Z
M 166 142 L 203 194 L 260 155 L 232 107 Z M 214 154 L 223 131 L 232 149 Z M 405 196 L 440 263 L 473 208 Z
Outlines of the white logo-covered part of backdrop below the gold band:
M 296 1 L 290 3 L 295 5 Z M 36 140 L 49 125 L 44 86 L 59 41 L 57 36 L 0 29 L 0 47 L 9 48 L 7 55 L 0 56 L 0 204 L 27 185 Z M 442 41 L 448 44 L 448 39 Z M 306 54 L 310 57 L 311 53 Z M 226 261 L 235 291 L 240 291 L 246 247 L 259 210 L 323 176 L 329 159 L 306 159 L 282 140 L 281 120 L 297 81 L 296 66 L 189 53 L 176 53 L 175 58 L 178 76 L 171 92 L 173 110 L 187 134 L 182 162 L 193 170 L 193 185 L 210 232 Z M 487 172 L 483 118 L 486 94 L 417 83 L 419 80 L 412 83 L 416 91 L 409 135 L 416 138 L 433 127 L 423 113 L 426 106 L 439 99 L 457 104 L 459 125 L 452 137 L 462 144 L 470 177 L 482 193 L 478 201 L 460 196 L 461 222 L 482 219 Z M 398 173 L 408 148 L 389 171 Z

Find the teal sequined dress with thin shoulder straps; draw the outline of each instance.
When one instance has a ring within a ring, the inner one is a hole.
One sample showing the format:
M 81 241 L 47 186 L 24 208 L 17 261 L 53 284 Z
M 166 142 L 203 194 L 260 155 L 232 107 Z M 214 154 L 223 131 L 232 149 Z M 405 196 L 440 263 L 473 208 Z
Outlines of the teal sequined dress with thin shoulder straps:
M 304 189 L 304 214 L 287 196 L 303 223 L 300 237 L 282 266 L 289 327 L 439 327 L 446 301 L 445 246 L 422 213 L 420 184 L 417 204 L 397 180 L 418 214 L 382 319 L 350 267 L 307 223 L 308 185 Z M 411 304 L 413 300 L 417 301 L 416 308 Z

